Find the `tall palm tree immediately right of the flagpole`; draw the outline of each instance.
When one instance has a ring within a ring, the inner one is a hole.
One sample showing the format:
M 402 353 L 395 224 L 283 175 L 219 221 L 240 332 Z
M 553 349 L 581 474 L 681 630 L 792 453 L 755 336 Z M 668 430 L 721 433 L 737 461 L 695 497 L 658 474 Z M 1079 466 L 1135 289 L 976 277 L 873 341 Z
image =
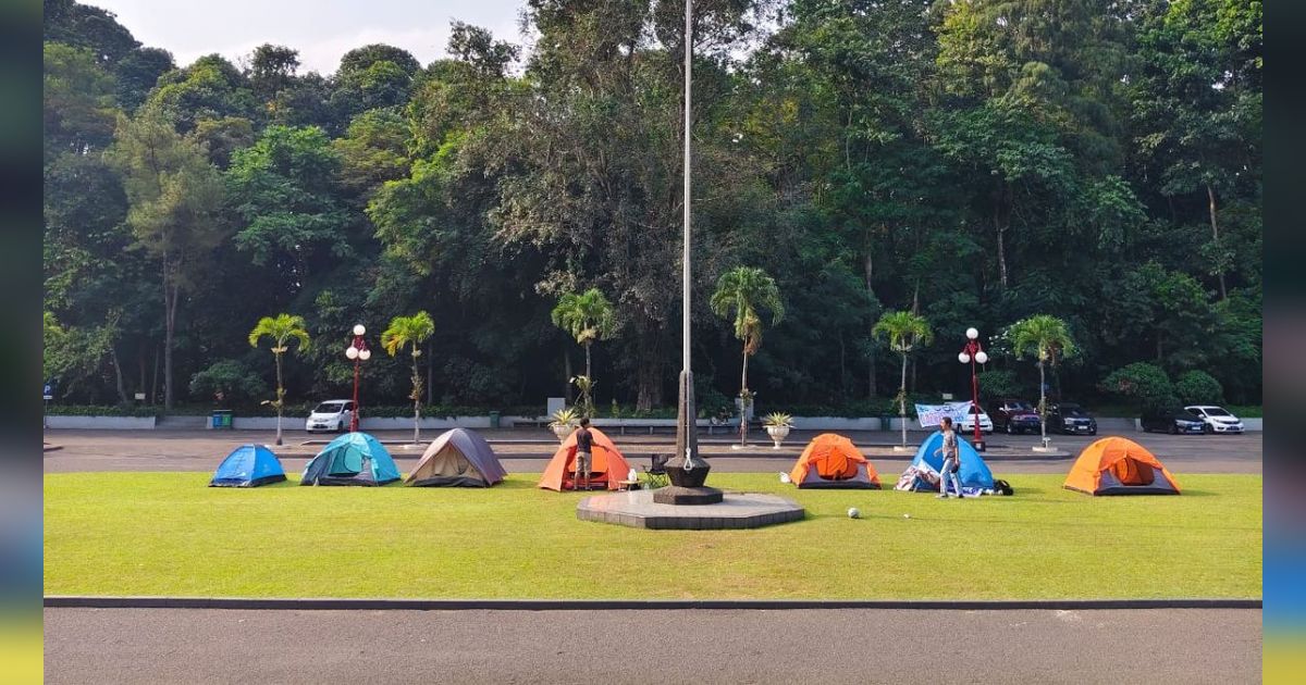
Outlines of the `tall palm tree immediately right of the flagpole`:
M 739 444 L 748 441 L 747 411 L 752 394 L 748 391 L 748 358 L 761 347 L 761 316 L 759 308 L 771 309 L 771 325 L 785 317 L 785 305 L 780 301 L 780 288 L 776 279 L 767 271 L 752 266 L 735 266 L 717 279 L 717 291 L 709 301 L 712 312 L 721 318 L 734 316 L 735 338 L 743 341 L 743 373 L 739 380 L 739 397 L 743 410 L 739 412 Z

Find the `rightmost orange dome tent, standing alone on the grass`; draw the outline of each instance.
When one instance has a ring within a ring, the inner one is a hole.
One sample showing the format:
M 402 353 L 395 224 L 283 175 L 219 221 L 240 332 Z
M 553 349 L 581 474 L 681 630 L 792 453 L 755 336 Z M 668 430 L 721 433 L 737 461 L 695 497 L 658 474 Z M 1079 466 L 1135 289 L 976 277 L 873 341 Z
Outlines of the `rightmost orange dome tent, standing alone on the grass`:
M 1179 495 L 1179 484 L 1145 448 L 1104 437 L 1084 448 L 1066 476 L 1066 489 L 1088 495 Z

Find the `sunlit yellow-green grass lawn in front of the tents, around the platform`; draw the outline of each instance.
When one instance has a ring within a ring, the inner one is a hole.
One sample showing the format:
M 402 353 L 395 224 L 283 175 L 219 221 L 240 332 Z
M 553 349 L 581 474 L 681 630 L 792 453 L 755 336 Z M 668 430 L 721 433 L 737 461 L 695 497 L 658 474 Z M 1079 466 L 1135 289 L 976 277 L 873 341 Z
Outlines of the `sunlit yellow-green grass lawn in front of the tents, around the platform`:
M 1068 467 L 1068 466 L 1067 466 Z M 883 475 L 882 475 L 883 478 Z M 1089 497 L 1007 476 L 1015 497 L 798 491 L 806 521 L 645 531 L 576 519 L 580 493 L 205 487 L 208 474 L 51 474 L 51 595 L 1096 599 L 1259 598 L 1260 476 L 1178 475 L 1179 497 Z M 846 517 L 849 506 L 862 519 Z M 910 514 L 910 518 L 904 518 Z

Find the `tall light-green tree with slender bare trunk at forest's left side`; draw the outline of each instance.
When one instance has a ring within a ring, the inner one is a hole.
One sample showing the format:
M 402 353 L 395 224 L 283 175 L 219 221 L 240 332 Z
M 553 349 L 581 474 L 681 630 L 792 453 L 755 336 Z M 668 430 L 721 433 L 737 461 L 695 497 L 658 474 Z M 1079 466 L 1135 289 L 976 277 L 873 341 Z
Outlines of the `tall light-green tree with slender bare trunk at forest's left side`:
M 204 149 L 182 137 L 154 112 L 120 117 L 107 153 L 123 177 L 127 223 L 137 243 L 158 260 L 163 290 L 163 406 L 172 408 L 172 351 L 183 292 L 193 286 L 196 262 L 226 237 L 219 210 L 222 179 Z

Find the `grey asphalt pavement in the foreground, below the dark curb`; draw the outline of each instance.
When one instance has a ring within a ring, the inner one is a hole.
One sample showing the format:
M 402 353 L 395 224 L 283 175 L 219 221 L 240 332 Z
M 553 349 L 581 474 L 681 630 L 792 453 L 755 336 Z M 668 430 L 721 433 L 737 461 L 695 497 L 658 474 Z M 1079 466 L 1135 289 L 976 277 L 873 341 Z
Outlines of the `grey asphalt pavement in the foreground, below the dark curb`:
M 1260 681 L 1255 609 L 46 609 L 46 682 Z

